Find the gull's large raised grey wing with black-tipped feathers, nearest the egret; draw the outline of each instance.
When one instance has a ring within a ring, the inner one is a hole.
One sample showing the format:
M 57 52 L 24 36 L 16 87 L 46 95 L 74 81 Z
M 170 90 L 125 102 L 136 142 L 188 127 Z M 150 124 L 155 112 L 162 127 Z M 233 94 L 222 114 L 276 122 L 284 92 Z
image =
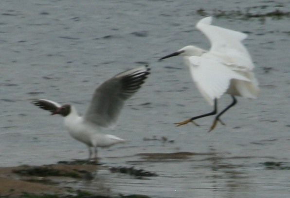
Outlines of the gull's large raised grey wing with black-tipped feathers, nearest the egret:
M 124 101 L 141 88 L 149 70 L 147 66 L 130 69 L 103 82 L 93 94 L 85 120 L 102 127 L 114 125 Z

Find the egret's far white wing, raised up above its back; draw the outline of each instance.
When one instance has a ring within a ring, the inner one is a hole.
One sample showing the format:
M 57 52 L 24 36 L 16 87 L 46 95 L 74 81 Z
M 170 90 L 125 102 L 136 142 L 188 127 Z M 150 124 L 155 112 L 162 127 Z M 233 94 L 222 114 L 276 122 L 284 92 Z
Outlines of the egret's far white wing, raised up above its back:
M 236 70 L 252 70 L 254 68 L 252 58 L 241 43 L 247 38 L 247 34 L 214 26 L 211 22 L 212 17 L 209 16 L 201 19 L 196 25 L 210 40 L 210 53 L 224 64 L 236 66 Z

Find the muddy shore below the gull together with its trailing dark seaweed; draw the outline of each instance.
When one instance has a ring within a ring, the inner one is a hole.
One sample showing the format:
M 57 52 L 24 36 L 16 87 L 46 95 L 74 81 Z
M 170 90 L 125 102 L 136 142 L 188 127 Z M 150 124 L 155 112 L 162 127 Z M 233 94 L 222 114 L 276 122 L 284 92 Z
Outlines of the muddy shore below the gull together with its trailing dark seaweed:
M 75 188 L 72 183 L 94 180 L 101 166 L 96 162 L 76 160 L 61 161 L 53 165 L 20 165 L 0 167 L 0 198 L 49 197 L 55 198 L 110 198 L 111 195 L 89 192 Z M 110 170 L 111 174 L 127 174 L 135 179 L 158 176 L 156 173 L 134 167 L 101 167 Z M 117 197 L 146 198 L 145 195 L 121 195 Z

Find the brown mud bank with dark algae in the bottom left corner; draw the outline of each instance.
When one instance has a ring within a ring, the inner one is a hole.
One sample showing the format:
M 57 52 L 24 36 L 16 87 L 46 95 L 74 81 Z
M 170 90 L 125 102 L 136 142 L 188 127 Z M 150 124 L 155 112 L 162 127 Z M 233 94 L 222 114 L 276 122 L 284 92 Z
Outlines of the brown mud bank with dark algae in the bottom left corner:
M 66 195 L 70 187 L 60 185 L 60 178 L 85 180 L 97 171 L 95 165 L 21 165 L 0 168 L 0 197 L 25 195 Z M 64 181 L 66 179 L 63 179 Z M 62 183 L 63 185 L 63 183 Z M 69 182 L 68 182 L 69 186 Z

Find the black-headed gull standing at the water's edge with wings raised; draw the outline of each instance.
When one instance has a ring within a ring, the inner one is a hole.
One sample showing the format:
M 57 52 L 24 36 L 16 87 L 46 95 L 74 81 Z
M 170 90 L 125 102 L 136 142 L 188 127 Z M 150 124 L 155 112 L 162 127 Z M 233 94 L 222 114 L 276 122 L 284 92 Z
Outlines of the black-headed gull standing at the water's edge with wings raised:
M 99 85 L 91 99 L 87 112 L 80 116 L 71 104 L 60 105 L 48 99 L 33 99 L 31 102 L 41 109 L 62 115 L 64 125 L 70 135 L 86 144 L 89 148 L 89 160 L 92 150 L 97 157 L 97 147 L 110 147 L 127 142 L 115 135 L 101 133 L 103 128 L 115 125 L 125 100 L 136 93 L 149 74 L 148 66 L 130 69 L 115 75 Z

